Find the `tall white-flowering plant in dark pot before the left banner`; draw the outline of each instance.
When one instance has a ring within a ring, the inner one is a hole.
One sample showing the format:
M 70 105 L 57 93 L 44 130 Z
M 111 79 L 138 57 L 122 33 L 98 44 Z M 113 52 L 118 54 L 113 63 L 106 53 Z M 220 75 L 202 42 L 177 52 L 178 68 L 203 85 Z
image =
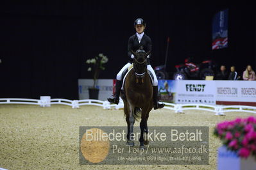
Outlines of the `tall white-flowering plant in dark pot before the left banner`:
M 102 53 L 99 53 L 95 58 L 87 59 L 86 63 L 89 66 L 88 72 L 92 72 L 93 76 L 93 86 L 89 88 L 89 98 L 90 99 L 98 99 L 99 97 L 99 89 L 96 86 L 96 82 L 99 78 L 99 73 L 101 70 L 105 70 L 105 64 L 108 62 L 107 56 L 104 56 Z

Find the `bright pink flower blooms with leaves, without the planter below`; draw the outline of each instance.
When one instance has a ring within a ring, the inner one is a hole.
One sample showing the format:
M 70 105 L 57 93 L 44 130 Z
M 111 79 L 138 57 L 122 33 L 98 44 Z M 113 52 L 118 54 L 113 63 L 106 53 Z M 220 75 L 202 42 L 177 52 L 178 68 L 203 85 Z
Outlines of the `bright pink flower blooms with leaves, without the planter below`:
M 235 151 L 239 157 L 247 158 L 252 155 L 256 158 L 256 117 L 218 123 L 214 135 L 223 141 L 228 150 Z

